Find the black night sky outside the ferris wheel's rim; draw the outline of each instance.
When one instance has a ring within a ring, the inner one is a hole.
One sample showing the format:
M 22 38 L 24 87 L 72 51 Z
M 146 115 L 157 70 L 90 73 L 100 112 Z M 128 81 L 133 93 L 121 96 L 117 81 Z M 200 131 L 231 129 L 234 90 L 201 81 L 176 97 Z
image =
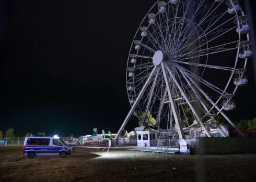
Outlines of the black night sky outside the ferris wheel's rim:
M 86 135 L 117 133 L 131 106 L 127 56 L 155 3 L 145 1 L 10 1 L 1 4 L 0 131 Z M 256 19 L 256 17 L 254 17 Z M 255 85 L 236 93 L 233 121 L 252 119 Z M 137 127 L 132 116 L 125 128 Z

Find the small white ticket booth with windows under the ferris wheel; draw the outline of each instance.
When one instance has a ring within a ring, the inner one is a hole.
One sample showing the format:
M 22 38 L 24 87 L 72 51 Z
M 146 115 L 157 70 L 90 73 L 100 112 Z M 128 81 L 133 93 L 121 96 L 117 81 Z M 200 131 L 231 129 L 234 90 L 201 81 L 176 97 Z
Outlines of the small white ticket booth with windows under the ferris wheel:
M 150 147 L 156 146 L 157 132 L 156 131 L 137 131 L 137 146 Z

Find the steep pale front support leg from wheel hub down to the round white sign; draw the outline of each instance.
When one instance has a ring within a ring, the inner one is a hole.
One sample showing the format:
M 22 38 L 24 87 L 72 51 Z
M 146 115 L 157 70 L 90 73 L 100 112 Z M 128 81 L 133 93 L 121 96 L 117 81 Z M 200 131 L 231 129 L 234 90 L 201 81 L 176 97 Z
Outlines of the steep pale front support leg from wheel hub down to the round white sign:
M 180 139 L 185 139 L 185 135 L 184 135 L 184 132 L 183 132 L 183 129 L 182 129 L 180 117 L 178 116 L 177 106 L 176 106 L 176 103 L 174 101 L 173 93 L 170 90 L 169 81 L 167 79 L 166 70 L 165 70 L 165 66 L 164 66 L 163 62 L 161 62 L 161 67 L 162 67 L 162 74 L 164 74 L 164 77 L 165 77 L 166 88 L 167 88 L 167 92 L 168 92 L 168 96 L 169 96 L 169 101 L 171 103 L 171 109 L 173 110 L 173 116 L 174 116 L 174 120 L 176 122 L 178 135 L 179 135 Z

